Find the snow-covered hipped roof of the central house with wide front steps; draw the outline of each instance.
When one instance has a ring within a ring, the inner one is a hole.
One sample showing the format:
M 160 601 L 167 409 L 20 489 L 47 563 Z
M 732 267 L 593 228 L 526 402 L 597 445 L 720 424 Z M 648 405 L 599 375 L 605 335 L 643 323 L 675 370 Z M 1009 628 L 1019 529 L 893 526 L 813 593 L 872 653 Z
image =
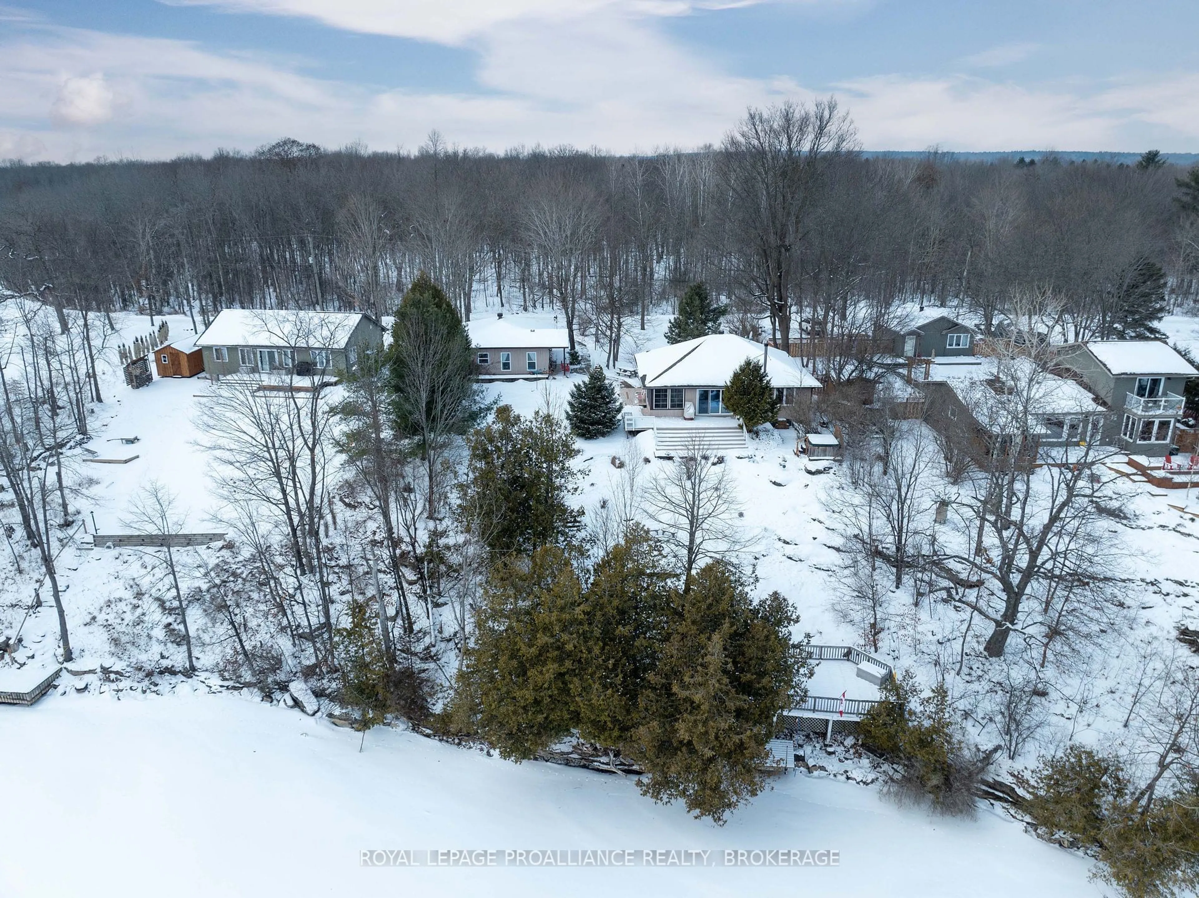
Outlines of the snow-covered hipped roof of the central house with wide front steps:
M 674 343 L 637 354 L 637 373 L 647 387 L 723 386 L 747 358 L 761 361 L 763 345 L 735 333 Z M 812 372 L 781 349 L 766 350 L 766 376 L 775 387 L 819 387 Z

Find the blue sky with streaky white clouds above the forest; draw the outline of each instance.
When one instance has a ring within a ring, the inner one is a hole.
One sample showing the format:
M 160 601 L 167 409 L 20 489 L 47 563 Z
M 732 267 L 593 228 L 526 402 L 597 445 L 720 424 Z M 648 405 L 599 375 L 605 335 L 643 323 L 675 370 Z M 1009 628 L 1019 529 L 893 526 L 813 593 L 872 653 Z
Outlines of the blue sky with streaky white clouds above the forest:
M 0 5 L 0 158 L 649 151 L 829 94 L 870 150 L 1195 152 L 1197 34 L 1199 0 L 36 0 Z

